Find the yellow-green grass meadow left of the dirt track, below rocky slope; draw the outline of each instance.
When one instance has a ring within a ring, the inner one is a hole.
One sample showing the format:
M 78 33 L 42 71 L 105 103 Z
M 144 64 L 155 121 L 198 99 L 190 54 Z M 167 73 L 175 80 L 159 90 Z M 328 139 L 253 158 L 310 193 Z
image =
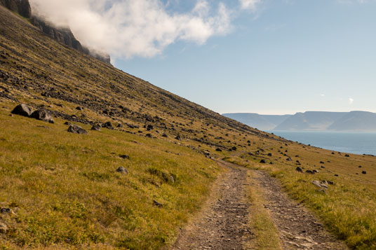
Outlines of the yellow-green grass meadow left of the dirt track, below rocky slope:
M 0 120 L 0 205 L 16 211 L 0 215 L 10 228 L 0 235 L 4 249 L 158 249 L 173 242 L 219 173 L 213 161 L 168 141 L 112 130 L 70 134 L 63 120 L 9 118 L 4 110 Z

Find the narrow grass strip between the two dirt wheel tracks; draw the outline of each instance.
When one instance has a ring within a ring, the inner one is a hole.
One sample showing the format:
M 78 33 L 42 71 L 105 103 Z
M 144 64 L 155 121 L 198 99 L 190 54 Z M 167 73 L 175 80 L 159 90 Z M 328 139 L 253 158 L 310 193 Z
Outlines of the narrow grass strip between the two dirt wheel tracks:
M 248 172 L 248 183 L 250 183 L 249 198 L 250 206 L 250 228 L 255 234 L 255 239 L 247 245 L 249 249 L 276 250 L 281 249 L 278 230 L 271 220 L 271 215 L 264 208 L 264 197 L 259 183 L 254 178 L 253 172 Z

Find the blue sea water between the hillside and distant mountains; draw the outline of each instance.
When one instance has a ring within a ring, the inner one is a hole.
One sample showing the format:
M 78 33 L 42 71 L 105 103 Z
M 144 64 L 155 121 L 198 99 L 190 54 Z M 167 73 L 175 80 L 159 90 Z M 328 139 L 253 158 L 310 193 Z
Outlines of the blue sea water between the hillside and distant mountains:
M 291 141 L 344 153 L 376 155 L 376 133 L 268 131 Z

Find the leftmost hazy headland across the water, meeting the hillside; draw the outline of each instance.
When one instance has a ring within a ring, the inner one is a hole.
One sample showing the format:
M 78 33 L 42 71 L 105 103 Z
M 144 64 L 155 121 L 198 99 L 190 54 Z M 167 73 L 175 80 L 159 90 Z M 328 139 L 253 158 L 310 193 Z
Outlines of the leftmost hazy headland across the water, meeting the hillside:
M 274 127 L 290 117 L 290 115 L 271 116 L 258 113 L 223 113 L 222 116 L 237 120 L 250 127 L 257 127 L 259 130 L 273 130 Z

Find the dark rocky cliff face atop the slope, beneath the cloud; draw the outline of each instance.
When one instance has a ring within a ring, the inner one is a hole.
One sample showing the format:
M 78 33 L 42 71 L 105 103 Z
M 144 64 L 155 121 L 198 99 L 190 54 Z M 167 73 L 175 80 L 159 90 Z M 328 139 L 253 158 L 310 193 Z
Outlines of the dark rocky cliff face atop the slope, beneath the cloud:
M 74 37 L 74 34 L 69 28 L 56 28 L 38 17 L 32 17 L 32 8 L 30 7 L 29 0 L 0 0 L 0 5 L 5 6 L 11 11 L 19 13 L 25 18 L 32 18 L 32 25 L 38 27 L 44 34 L 59 41 L 60 43 L 74 48 L 75 50 L 79 50 L 81 53 L 90 55 L 107 64 L 111 63 L 111 58 L 109 57 L 109 55 L 100 55 L 98 53 L 90 51 L 88 48 L 83 47 L 81 43 Z

